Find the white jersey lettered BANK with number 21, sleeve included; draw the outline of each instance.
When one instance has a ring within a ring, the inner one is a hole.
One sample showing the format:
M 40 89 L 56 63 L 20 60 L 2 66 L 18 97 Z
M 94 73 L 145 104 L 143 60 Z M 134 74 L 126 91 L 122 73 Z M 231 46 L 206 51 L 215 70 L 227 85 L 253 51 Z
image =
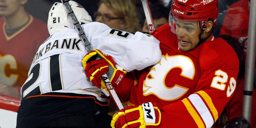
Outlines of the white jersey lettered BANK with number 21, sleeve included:
M 159 41 L 153 36 L 110 29 L 105 24 L 81 25 L 92 48 L 109 54 L 126 71 L 142 70 L 161 58 Z M 90 94 L 100 101 L 102 90 L 86 77 L 82 59 L 87 50 L 74 29 L 57 32 L 38 49 L 21 89 L 22 99 L 48 92 Z

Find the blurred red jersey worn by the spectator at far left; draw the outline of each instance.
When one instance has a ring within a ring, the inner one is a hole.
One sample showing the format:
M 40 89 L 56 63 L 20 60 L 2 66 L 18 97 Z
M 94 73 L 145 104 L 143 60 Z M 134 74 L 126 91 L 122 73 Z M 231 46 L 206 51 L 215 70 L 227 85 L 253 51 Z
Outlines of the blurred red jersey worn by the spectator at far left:
M 47 24 L 29 14 L 29 22 L 12 34 L 6 34 L 0 18 L 0 82 L 21 87 L 40 44 L 49 37 Z

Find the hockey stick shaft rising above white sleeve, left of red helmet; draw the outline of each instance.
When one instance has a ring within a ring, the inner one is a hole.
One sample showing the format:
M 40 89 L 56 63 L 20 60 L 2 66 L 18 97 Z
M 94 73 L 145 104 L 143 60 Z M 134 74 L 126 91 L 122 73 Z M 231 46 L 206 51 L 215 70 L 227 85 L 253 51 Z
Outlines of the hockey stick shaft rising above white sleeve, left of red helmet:
M 146 16 L 146 20 L 148 23 L 149 32 L 152 33 L 155 30 L 155 27 L 154 27 L 153 18 L 150 12 L 148 0 L 141 0 L 141 2 L 142 2 L 145 16 Z

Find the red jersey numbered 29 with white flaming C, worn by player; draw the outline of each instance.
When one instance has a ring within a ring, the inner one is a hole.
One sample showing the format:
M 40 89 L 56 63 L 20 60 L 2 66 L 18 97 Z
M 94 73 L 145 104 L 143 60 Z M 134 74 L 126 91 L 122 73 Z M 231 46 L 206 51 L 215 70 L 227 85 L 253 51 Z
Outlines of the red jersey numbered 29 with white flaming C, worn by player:
M 168 24 L 152 35 L 160 40 L 162 59 L 142 70 L 128 105 L 152 102 L 162 114 L 160 128 L 210 128 L 236 88 L 236 53 L 213 36 L 192 51 L 178 50 Z

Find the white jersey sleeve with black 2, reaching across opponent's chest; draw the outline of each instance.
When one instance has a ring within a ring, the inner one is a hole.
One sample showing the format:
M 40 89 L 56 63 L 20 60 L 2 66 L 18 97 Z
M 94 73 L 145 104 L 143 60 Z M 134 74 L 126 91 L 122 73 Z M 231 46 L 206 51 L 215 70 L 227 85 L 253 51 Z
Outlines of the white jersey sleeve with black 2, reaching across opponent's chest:
M 154 36 L 142 32 L 131 34 L 110 29 L 105 24 L 98 22 L 85 24 L 83 29 L 92 48 L 112 56 L 116 64 L 128 72 L 142 70 L 156 64 L 162 56 L 160 42 Z M 93 35 L 91 35 L 92 30 Z

